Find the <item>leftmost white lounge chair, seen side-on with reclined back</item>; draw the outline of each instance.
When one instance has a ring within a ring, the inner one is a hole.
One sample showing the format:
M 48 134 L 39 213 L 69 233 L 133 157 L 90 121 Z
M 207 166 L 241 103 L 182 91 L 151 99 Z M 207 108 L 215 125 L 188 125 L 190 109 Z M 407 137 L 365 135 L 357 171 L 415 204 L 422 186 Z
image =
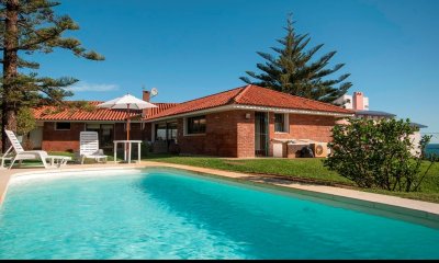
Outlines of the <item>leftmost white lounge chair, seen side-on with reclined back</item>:
M 43 150 L 31 150 L 26 151 L 21 146 L 19 139 L 12 130 L 5 130 L 9 140 L 11 141 L 11 147 L 4 152 L 2 157 L 2 167 L 4 164 L 4 160 L 11 159 L 11 164 L 9 169 L 11 169 L 15 161 L 19 161 L 20 164 L 23 160 L 41 160 L 44 164 L 44 168 L 59 168 L 67 163 L 67 161 L 71 160 L 71 157 L 65 156 L 49 156 L 47 151 Z M 14 150 L 14 153 L 12 152 Z M 49 163 L 47 163 L 49 160 Z

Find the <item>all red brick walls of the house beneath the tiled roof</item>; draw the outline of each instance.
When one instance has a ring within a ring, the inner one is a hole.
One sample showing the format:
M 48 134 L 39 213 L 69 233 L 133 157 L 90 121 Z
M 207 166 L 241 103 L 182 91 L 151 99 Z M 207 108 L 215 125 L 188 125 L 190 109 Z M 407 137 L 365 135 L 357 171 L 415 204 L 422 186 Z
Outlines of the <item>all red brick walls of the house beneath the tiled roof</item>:
M 205 114 L 206 132 L 202 135 L 185 135 L 183 117 L 178 118 L 177 141 L 183 155 L 207 155 L 219 157 L 255 157 L 255 112 L 227 111 Z M 322 115 L 289 114 L 289 133 L 274 133 L 274 113 L 269 113 L 269 139 L 312 139 L 328 142 L 336 118 Z M 124 123 L 114 124 L 114 139 L 125 139 Z M 43 150 L 77 151 L 79 133 L 85 123 L 71 123 L 70 130 L 56 130 L 55 123 L 44 123 Z M 130 138 L 151 140 L 151 124 L 132 123 Z M 272 156 L 272 144 L 269 144 Z

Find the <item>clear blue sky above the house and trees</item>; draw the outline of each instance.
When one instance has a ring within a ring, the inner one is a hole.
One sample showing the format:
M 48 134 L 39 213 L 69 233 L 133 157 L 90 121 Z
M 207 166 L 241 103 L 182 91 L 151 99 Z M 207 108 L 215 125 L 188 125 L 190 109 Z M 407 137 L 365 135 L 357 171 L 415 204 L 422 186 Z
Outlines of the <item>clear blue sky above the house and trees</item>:
M 106 57 L 88 61 L 58 50 L 37 56 L 42 76 L 72 76 L 78 100 L 110 100 L 142 85 L 155 102 L 182 102 L 243 85 L 284 35 L 293 12 L 317 55 L 337 50 L 353 91 L 370 108 L 409 117 L 439 133 L 439 1 L 436 0 L 60 0 L 58 13 L 81 27 L 69 35 Z M 436 141 L 439 141 L 439 135 Z

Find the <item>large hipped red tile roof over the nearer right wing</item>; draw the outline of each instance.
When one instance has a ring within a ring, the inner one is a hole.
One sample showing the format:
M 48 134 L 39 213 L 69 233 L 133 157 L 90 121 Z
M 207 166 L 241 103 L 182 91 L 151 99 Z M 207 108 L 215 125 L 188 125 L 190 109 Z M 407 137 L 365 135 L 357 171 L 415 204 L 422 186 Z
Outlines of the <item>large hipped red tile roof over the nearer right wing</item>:
M 180 103 L 169 110 L 166 110 L 148 119 L 167 117 L 183 113 L 207 110 L 223 105 L 250 105 L 250 106 L 268 106 L 288 110 L 304 110 L 314 112 L 353 114 L 352 111 L 346 110 L 333 104 L 323 103 L 301 96 L 290 95 L 279 91 L 261 88 L 258 85 L 245 85 L 233 90 L 224 91 L 213 95 L 200 98 L 196 100 Z

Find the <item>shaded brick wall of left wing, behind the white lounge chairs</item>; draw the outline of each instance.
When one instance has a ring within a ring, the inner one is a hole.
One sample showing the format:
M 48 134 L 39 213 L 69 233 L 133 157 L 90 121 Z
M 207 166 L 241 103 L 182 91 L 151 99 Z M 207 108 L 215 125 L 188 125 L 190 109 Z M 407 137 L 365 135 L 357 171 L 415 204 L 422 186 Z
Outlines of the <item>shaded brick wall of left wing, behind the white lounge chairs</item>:
M 42 149 L 46 151 L 79 150 L 79 133 L 83 123 L 71 123 L 70 130 L 55 130 L 55 123 L 44 123 Z

